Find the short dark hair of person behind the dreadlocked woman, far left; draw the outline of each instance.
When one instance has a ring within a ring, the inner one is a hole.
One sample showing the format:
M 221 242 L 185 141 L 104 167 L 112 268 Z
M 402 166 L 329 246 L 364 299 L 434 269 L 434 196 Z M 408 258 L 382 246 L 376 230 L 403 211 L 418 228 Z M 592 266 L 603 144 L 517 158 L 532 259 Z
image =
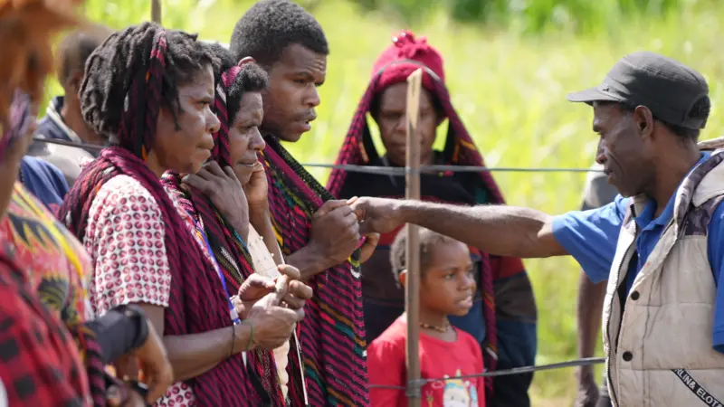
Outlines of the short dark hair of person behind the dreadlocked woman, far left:
M 84 24 L 68 35 L 58 45 L 56 66 L 58 81 L 66 86 L 68 80 L 78 71 L 85 69 L 85 62 L 90 54 L 113 33 L 110 27 L 103 24 Z

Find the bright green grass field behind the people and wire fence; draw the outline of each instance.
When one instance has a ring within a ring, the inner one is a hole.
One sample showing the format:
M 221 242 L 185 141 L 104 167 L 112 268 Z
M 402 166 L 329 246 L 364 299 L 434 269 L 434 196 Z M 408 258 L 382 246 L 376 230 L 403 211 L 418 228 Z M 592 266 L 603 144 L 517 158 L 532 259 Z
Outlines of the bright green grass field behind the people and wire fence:
M 91 20 L 122 27 L 149 18 L 148 3 L 92 0 L 86 11 Z M 233 24 L 249 4 L 239 3 L 165 1 L 164 23 L 226 43 Z M 367 87 L 376 55 L 405 25 L 387 18 L 388 14 L 361 14 L 343 1 L 316 3 L 313 13 L 331 47 L 328 77 L 320 88 L 318 120 L 291 150 L 302 162 L 331 163 Z M 702 138 L 719 135 L 722 94 L 718 90 L 724 76 L 724 43 L 717 34 L 724 11 L 702 2 L 683 3 L 681 14 L 644 16 L 628 23 L 607 14 L 599 30 L 586 34 L 564 29 L 521 35 L 514 25 L 493 31 L 452 23 L 442 13 L 431 13 L 412 28 L 443 52 L 453 105 L 488 166 L 585 168 L 592 163 L 597 142 L 591 131 L 592 112 L 585 105 L 568 103 L 566 94 L 598 84 L 627 52 L 662 52 L 701 71 L 710 82 L 714 106 Z M 327 171 L 312 172 L 326 181 Z M 509 204 L 563 213 L 580 205 L 586 175 L 497 173 L 495 178 Z M 576 262 L 559 258 L 527 260 L 526 264 L 538 299 L 537 363 L 574 358 Z M 576 390 L 573 374 L 572 369 L 537 374 L 533 405 L 572 405 Z

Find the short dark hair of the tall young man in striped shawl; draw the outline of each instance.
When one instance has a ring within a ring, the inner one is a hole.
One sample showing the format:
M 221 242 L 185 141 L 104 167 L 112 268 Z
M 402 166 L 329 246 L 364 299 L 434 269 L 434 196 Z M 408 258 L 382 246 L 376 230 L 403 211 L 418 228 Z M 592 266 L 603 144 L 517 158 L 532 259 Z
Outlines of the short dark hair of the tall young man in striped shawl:
M 229 48 L 236 61 L 251 56 L 268 71 L 295 43 L 329 55 L 327 37 L 314 16 L 289 0 L 262 0 L 233 27 Z

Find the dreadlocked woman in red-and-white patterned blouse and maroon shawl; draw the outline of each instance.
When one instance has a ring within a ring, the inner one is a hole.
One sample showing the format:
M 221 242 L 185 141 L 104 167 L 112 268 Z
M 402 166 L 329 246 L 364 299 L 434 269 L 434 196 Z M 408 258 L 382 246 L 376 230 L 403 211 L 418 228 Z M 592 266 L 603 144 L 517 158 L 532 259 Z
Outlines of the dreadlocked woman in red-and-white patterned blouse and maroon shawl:
M 166 171 L 194 174 L 210 156 L 217 61 L 195 35 L 139 24 L 90 55 L 81 85 L 83 117 L 111 147 L 59 217 L 90 253 L 96 312 L 138 304 L 163 332 L 176 383 L 157 405 L 261 405 L 242 353 L 281 345 L 303 316 L 279 306 L 283 279 L 258 302 L 251 294 L 269 288 L 245 281 L 246 308 L 234 308 L 203 228 L 161 184 Z

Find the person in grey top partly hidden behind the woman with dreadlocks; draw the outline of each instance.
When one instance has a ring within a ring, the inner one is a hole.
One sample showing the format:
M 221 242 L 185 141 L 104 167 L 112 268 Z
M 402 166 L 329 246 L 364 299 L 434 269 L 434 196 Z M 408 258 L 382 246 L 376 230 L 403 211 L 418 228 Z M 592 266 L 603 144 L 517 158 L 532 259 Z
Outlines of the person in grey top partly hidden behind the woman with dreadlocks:
M 83 121 L 81 89 L 85 62 L 90 54 L 103 43 L 113 31 L 100 24 L 88 24 L 69 33 L 62 39 L 56 51 L 58 82 L 64 96 L 56 96 L 48 105 L 38 122 L 35 136 L 77 144 L 103 145 L 103 138 Z M 38 156 L 57 166 L 69 185 L 81 173 L 81 164 L 98 156 L 97 151 L 89 152 L 80 147 L 68 147 L 35 141 L 28 149 L 28 155 Z

